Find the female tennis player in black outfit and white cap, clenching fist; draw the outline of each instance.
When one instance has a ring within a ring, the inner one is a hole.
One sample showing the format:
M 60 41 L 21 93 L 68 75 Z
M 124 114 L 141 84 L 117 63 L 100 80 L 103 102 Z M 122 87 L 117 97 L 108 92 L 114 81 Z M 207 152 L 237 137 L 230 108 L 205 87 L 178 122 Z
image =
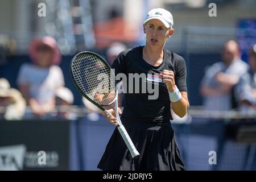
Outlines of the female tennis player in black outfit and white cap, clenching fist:
M 117 128 L 109 140 L 98 168 L 102 170 L 185 170 L 170 120 L 171 108 L 184 117 L 189 107 L 186 67 L 183 57 L 164 48 L 174 32 L 172 15 L 164 9 L 152 9 L 143 23 L 146 45 L 121 52 L 114 60 L 115 75 L 145 74 L 146 81 L 158 86 L 158 98 L 150 93 L 125 93 L 121 121 L 139 152 L 132 158 Z M 124 84 L 124 83 L 123 83 Z M 156 89 L 157 90 L 157 89 Z M 109 109 L 115 117 L 114 109 Z M 108 117 L 114 123 L 116 118 Z

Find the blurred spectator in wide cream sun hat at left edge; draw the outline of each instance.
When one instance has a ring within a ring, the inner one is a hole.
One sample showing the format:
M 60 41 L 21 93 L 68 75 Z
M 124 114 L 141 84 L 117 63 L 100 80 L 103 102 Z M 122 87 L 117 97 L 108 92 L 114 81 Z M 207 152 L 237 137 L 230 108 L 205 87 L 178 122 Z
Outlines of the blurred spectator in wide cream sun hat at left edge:
M 22 119 L 26 109 L 22 94 L 11 88 L 5 78 L 0 78 L 0 107 L 0 119 L 6 120 Z

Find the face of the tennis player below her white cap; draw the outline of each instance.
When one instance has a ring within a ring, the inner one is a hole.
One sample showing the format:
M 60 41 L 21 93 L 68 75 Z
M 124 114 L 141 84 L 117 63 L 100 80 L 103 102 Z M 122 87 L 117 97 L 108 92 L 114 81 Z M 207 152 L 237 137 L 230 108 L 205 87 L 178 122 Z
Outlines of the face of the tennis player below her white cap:
M 146 44 L 150 46 L 164 46 L 167 38 L 172 35 L 173 29 L 166 28 L 158 19 L 151 19 L 144 24 L 144 33 L 146 34 Z

